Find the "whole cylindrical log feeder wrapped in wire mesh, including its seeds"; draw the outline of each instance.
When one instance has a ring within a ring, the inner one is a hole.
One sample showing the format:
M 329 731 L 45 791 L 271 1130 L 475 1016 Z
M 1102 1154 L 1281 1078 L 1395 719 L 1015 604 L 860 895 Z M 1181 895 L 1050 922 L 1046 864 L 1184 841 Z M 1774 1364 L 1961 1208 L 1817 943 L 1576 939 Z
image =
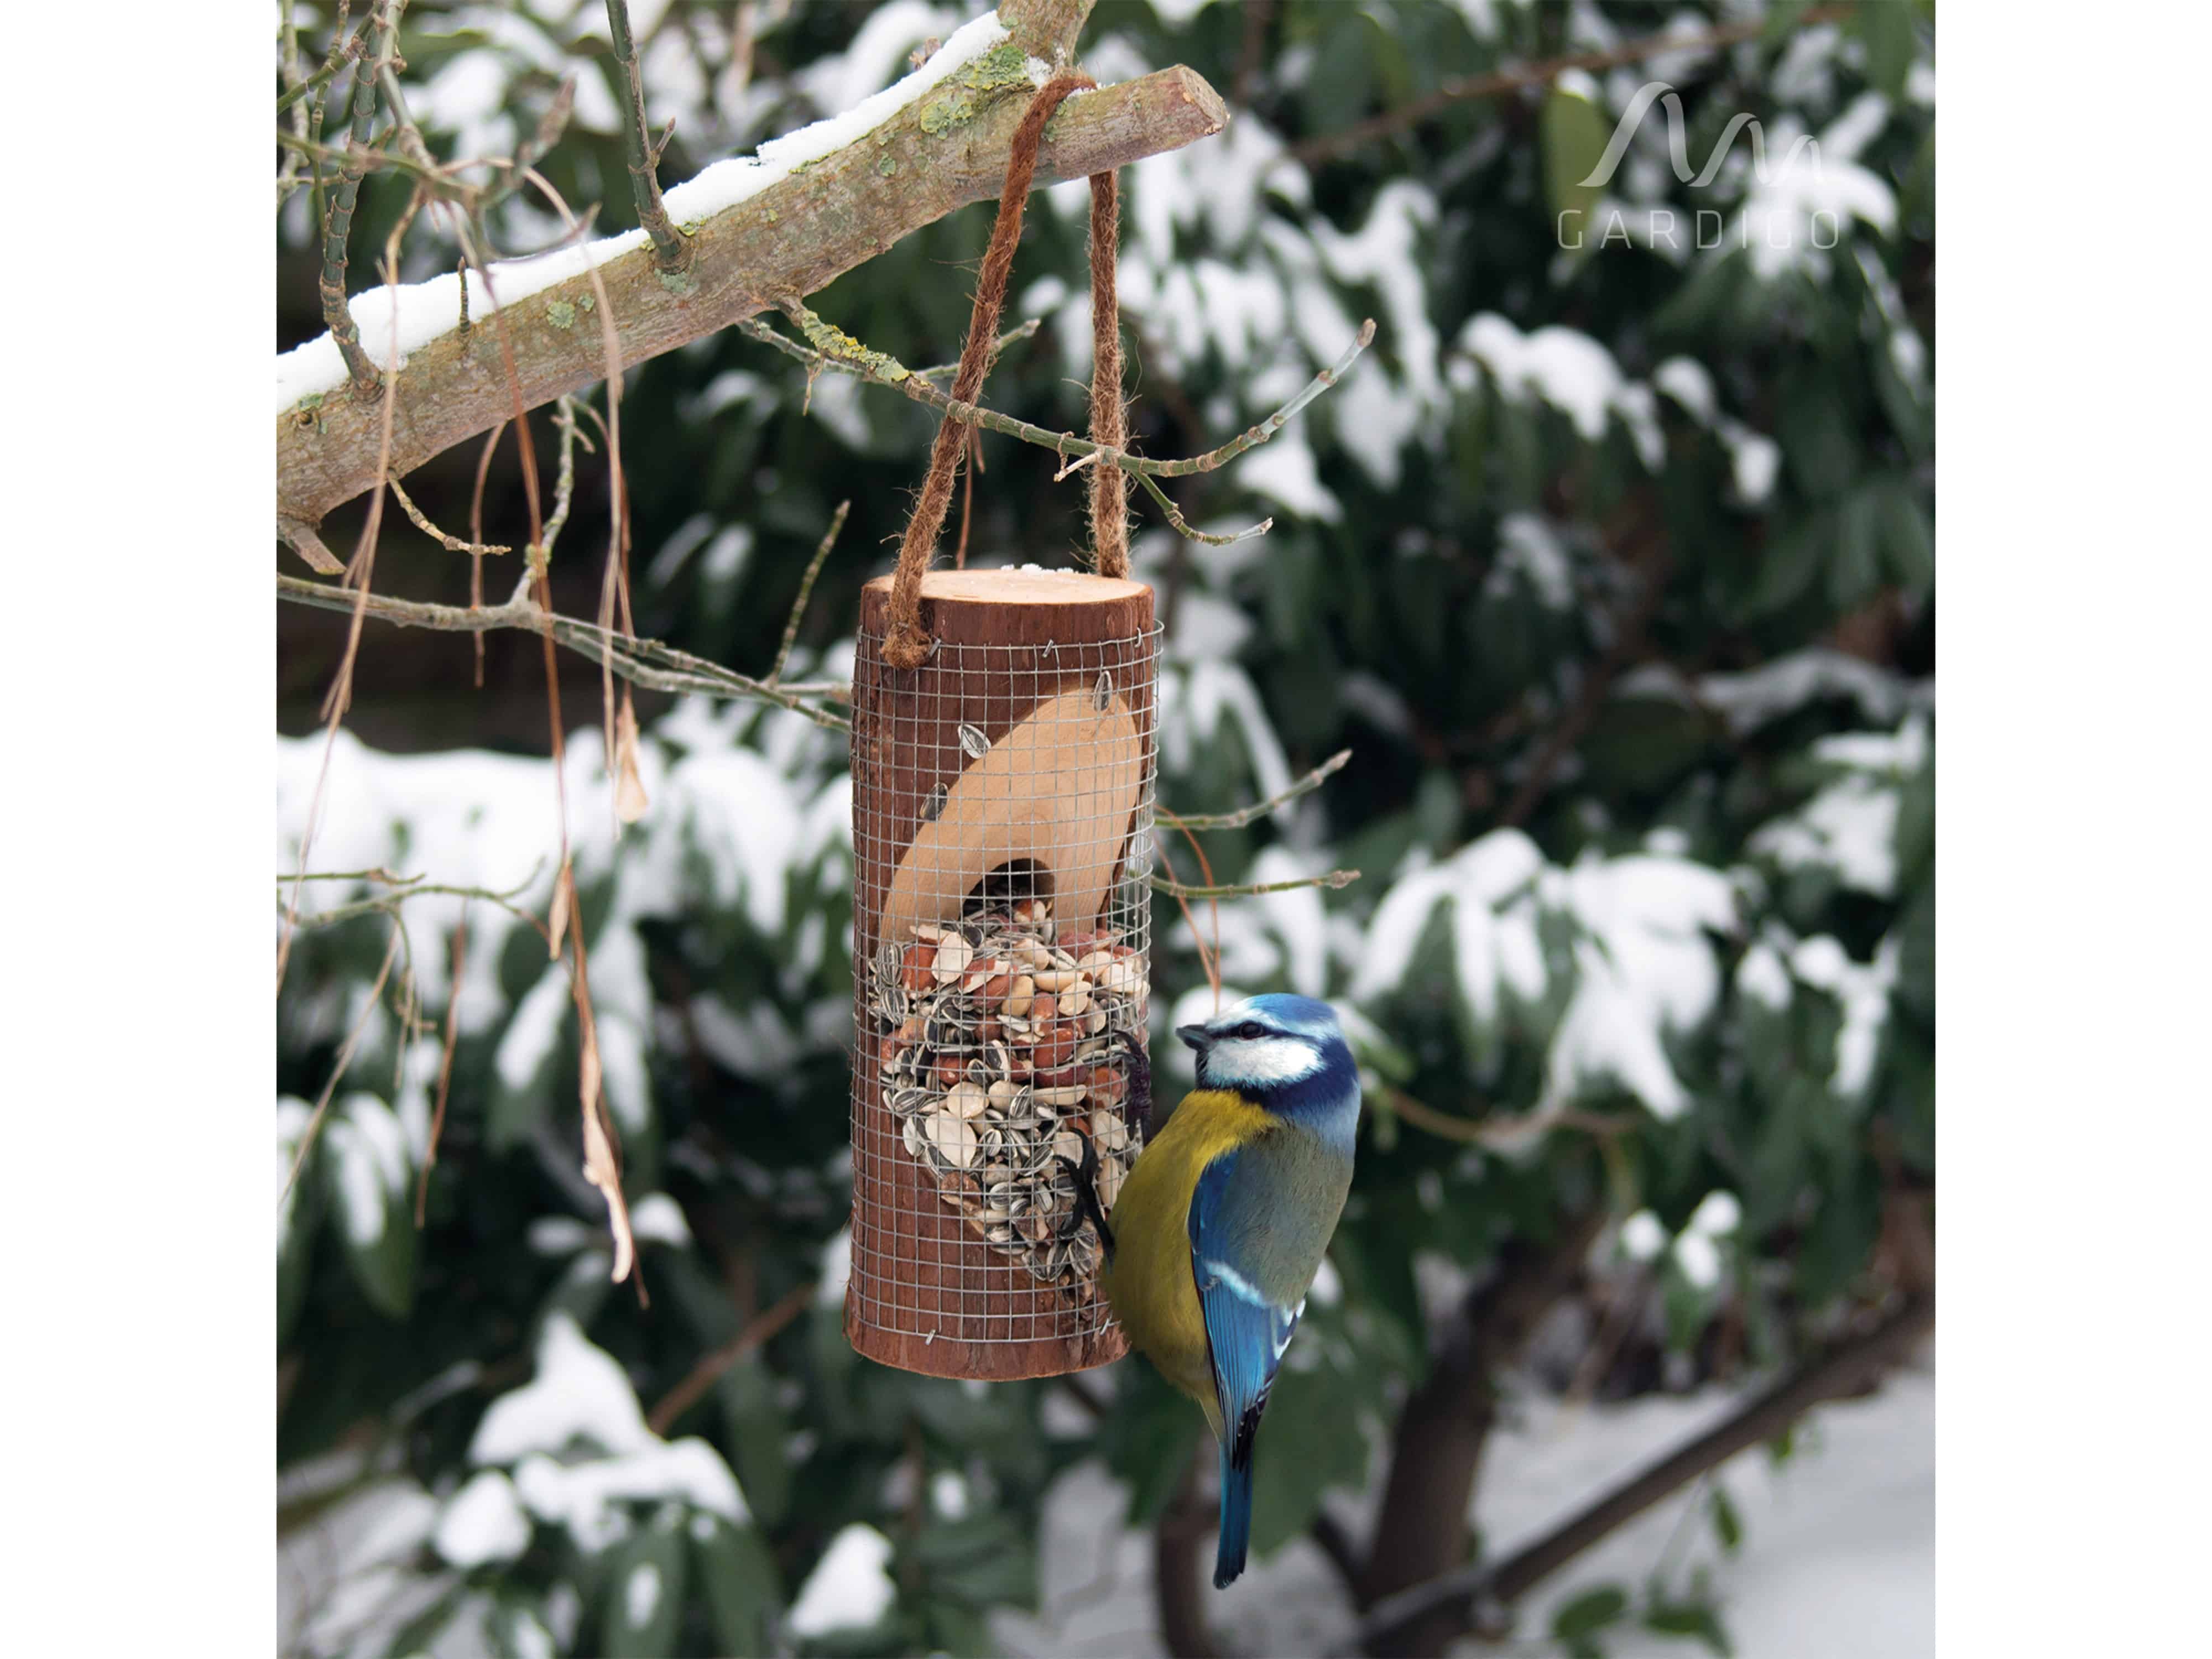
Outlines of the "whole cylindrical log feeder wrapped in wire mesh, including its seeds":
M 869 1358 L 960 1378 L 1119 1358 L 1099 1243 L 1150 1097 L 1152 591 L 922 580 L 920 668 L 854 661 L 852 1281 Z

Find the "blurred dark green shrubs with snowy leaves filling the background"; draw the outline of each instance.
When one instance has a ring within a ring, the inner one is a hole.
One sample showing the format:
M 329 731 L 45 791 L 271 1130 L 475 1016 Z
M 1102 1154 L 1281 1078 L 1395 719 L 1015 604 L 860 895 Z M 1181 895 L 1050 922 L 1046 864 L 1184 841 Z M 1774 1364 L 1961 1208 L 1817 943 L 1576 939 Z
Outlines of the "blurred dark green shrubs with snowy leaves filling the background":
M 332 9 L 292 18 L 316 60 Z M 914 46 L 975 18 L 637 0 L 648 111 L 675 119 L 664 181 L 885 93 Z M 1761 31 L 1697 44 L 1734 24 Z M 1668 49 L 1314 148 L 1455 75 L 1650 35 Z M 597 4 L 422 2 L 403 46 L 445 155 L 509 153 L 575 73 L 546 175 L 602 204 L 602 234 L 633 223 Z M 1927 1292 L 1933 35 L 1913 4 L 1803 27 L 1734 0 L 1108 0 L 1084 33 L 1099 80 L 1177 62 L 1234 119 L 1126 177 L 1139 447 L 1225 440 L 1378 321 L 1356 372 L 1274 442 L 1175 484 L 1201 529 L 1274 515 L 1270 535 L 1197 546 L 1144 504 L 1135 538 L 1168 626 L 1166 805 L 1267 799 L 1352 750 L 1321 790 L 1203 845 L 1230 883 L 1363 878 L 1194 907 L 1197 929 L 1161 900 L 1152 964 L 1155 1037 L 1212 1006 L 1199 942 L 1219 938 L 1225 995 L 1332 998 L 1360 1051 L 1360 1177 L 1270 1407 L 1259 1557 L 1203 1608 L 1225 1650 L 1338 1652 L 1374 1584 L 1345 1582 L 1316 1520 L 1354 1548 L 1374 1535 L 1394 1458 L 1420 1455 L 1396 1447 L 1407 1400 L 1471 1298 L 1577 1219 L 1595 1217 L 1588 1248 L 1471 1383 L 1495 1380 L 1502 1411 L 1433 1528 L 1440 1568 L 1511 1553 Z M 1646 97 L 1610 181 L 1584 186 L 1652 82 L 1679 95 L 1692 177 Z M 1763 161 L 1736 137 L 1699 181 L 1739 115 Z M 825 142 L 801 135 L 768 170 Z M 392 179 L 365 186 L 352 288 L 403 201 Z M 281 407 L 334 358 L 314 338 L 310 204 L 303 188 L 279 210 Z M 1668 212 L 1710 215 L 1714 246 L 1670 246 Z M 945 361 L 987 215 L 810 303 L 905 363 Z M 1084 420 L 1084 215 L 1079 184 L 1033 210 L 1009 310 L 1042 327 L 987 392 L 1051 429 Z M 1564 223 L 1584 246 L 1562 246 Z M 520 199 L 493 230 L 504 254 L 560 239 Z M 422 223 L 407 261 L 427 288 L 403 319 L 431 327 L 453 250 Z M 712 336 L 633 372 L 622 425 L 639 633 L 748 672 L 854 500 L 785 670 L 843 681 L 922 411 Z M 1002 438 L 984 458 L 978 562 L 1073 562 L 1079 480 L 1055 487 L 1057 462 Z M 407 482 L 453 526 L 473 473 L 465 445 Z M 358 513 L 323 526 L 341 553 Z M 606 520 L 604 456 L 584 456 L 553 568 L 566 613 L 597 604 Z M 484 524 L 526 535 L 511 442 Z M 509 582 L 487 573 L 495 595 Z M 389 522 L 376 588 L 465 602 L 467 560 Z M 562 668 L 555 779 L 533 639 L 491 637 L 478 688 L 467 637 L 369 624 L 325 754 L 343 633 L 281 608 L 276 869 L 299 867 L 314 810 L 310 872 L 478 896 L 365 909 L 394 889 L 301 889 L 276 1055 L 279 1648 L 1177 1650 L 1155 1526 L 1199 1433 L 1188 1405 L 1137 1363 L 1086 1396 L 909 1378 L 838 1332 L 843 734 L 641 695 L 650 805 L 617 834 L 591 661 Z M 562 827 L 650 1307 L 606 1283 L 568 978 L 526 920 L 551 911 Z M 1188 843 L 1161 847 L 1194 878 Z M 1155 1046 L 1155 1066 L 1172 1102 L 1188 1055 Z M 686 1402 L 679 1385 L 748 1327 L 770 1334 Z M 1506 1650 L 1929 1652 L 1931 1422 L 1922 1347 L 1579 1555 L 1515 1608 Z

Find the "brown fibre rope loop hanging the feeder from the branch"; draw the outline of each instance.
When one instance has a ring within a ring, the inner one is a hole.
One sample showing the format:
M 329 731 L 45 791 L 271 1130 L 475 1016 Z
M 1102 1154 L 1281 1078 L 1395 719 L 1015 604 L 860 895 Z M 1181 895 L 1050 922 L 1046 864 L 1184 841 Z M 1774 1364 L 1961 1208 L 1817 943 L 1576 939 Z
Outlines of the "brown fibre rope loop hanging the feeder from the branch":
M 1013 250 L 1022 241 L 1022 212 L 1029 186 L 1037 175 L 1037 144 L 1053 111 L 1068 97 L 1097 86 L 1088 75 L 1057 75 L 1037 88 L 1022 124 L 1013 131 L 1013 153 L 1006 157 L 1006 186 L 998 195 L 998 219 L 991 223 L 991 246 L 982 257 L 975 283 L 975 310 L 969 314 L 967 345 L 960 347 L 960 369 L 953 374 L 953 403 L 975 403 L 982 376 L 991 367 L 991 343 L 1006 307 L 1006 279 L 1013 274 Z M 1121 192 L 1113 173 L 1091 175 L 1091 440 L 1121 449 L 1121 312 L 1115 299 L 1115 250 L 1119 243 Z M 929 476 L 920 500 L 907 520 L 898 544 L 898 575 L 891 580 L 891 615 L 883 637 L 883 659 L 894 668 L 920 668 L 929 659 L 931 639 L 922 630 L 922 573 L 938 551 L 938 531 L 953 498 L 953 473 L 971 427 L 945 416 L 938 440 L 929 449 Z M 1119 467 L 1091 467 L 1091 544 L 1099 575 L 1128 575 L 1128 480 Z

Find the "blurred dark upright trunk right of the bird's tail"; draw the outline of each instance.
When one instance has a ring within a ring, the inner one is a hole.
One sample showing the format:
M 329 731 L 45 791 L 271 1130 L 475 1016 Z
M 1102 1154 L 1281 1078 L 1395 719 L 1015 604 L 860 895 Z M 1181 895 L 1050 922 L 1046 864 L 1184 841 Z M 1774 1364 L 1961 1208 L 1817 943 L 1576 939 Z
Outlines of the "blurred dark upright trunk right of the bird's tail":
M 1511 1241 L 1498 1272 L 1469 1296 L 1467 1316 L 1398 1413 L 1360 1606 L 1464 1566 L 1467 1504 L 1498 1420 L 1491 1374 L 1522 1352 L 1573 1285 L 1604 1221 L 1595 1206 L 1568 1217 L 1548 1243 Z M 1462 1617 L 1438 1608 L 1383 1630 L 1369 1652 L 1438 1655 L 1464 1628 Z

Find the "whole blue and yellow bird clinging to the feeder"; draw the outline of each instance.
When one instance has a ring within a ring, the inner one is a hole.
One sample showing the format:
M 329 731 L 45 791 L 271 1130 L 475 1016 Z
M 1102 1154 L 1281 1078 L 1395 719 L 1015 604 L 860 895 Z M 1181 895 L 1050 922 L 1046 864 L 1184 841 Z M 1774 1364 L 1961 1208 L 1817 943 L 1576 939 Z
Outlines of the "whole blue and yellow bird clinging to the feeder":
M 1099 1225 L 1102 1283 L 1221 1442 L 1221 1588 L 1245 1566 L 1267 1389 L 1352 1188 L 1360 1079 L 1336 1013 L 1312 998 L 1259 995 L 1175 1035 L 1199 1053 L 1199 1086 Z

